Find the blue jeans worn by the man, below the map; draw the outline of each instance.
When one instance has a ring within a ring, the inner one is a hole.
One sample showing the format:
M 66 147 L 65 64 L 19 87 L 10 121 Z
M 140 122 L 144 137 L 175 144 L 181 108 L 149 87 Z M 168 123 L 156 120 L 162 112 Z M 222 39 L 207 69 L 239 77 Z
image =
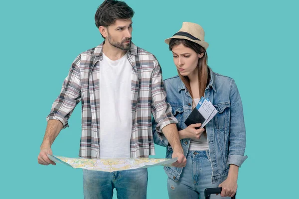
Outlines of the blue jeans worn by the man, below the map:
M 112 173 L 83 169 L 84 199 L 112 199 L 114 188 L 118 199 L 146 199 L 147 187 L 147 169 Z

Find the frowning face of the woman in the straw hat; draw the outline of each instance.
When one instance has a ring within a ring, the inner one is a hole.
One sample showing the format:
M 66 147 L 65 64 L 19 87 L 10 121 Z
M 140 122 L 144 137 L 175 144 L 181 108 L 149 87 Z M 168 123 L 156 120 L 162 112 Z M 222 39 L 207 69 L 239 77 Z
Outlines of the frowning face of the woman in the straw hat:
M 196 73 L 198 58 L 203 57 L 203 53 L 198 54 L 183 44 L 174 46 L 172 54 L 173 62 L 182 76 L 189 76 Z

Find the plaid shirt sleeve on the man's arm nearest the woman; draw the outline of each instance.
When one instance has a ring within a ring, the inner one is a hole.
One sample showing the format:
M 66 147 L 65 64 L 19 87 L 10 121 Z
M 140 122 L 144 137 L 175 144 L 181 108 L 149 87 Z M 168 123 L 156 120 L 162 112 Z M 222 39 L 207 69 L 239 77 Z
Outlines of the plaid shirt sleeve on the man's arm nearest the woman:
M 166 91 L 162 79 L 162 70 L 154 57 L 154 71 L 151 75 L 151 113 L 155 120 L 155 130 L 162 132 L 168 124 L 177 123 L 177 119 L 171 113 L 171 106 L 166 102 Z

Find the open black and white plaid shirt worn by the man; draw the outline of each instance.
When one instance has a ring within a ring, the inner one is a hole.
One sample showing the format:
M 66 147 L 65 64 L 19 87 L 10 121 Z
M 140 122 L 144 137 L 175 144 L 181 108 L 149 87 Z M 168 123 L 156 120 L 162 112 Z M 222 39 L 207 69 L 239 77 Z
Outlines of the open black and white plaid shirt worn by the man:
M 100 157 L 99 70 L 100 61 L 103 59 L 102 50 L 103 43 L 77 56 L 63 82 L 60 95 L 47 116 L 47 120 L 60 120 L 63 128 L 68 127 L 68 119 L 81 101 L 82 136 L 79 156 L 83 158 Z M 131 157 L 149 157 L 155 154 L 151 114 L 158 123 L 158 132 L 168 124 L 177 123 L 177 120 L 171 114 L 170 105 L 165 101 L 162 71 L 154 55 L 132 43 L 128 60 L 132 65 Z

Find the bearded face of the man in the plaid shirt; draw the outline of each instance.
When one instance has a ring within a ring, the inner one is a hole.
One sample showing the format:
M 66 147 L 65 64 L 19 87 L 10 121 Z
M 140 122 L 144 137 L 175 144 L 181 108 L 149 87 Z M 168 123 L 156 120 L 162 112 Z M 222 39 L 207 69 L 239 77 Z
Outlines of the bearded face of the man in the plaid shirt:
M 114 24 L 107 27 L 106 40 L 116 48 L 129 50 L 131 48 L 132 29 L 132 19 L 117 19 Z

